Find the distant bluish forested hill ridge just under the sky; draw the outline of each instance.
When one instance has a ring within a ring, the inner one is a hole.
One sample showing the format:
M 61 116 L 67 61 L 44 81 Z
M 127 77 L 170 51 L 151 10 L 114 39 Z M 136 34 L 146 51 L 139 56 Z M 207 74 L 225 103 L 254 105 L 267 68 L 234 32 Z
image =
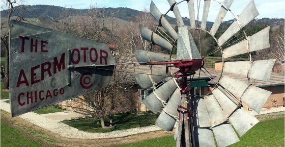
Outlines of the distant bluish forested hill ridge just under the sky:
M 88 9 L 73 9 L 73 8 L 64 8 L 54 5 L 23 5 L 28 13 L 23 13 L 22 9 L 15 11 L 12 16 L 23 16 L 24 18 L 40 18 L 45 17 L 50 20 L 58 20 L 60 19 L 60 14 L 63 12 L 68 15 L 78 15 L 78 14 L 85 14 Z M 17 8 L 17 7 L 15 7 Z M 106 17 L 110 16 L 111 14 L 114 17 L 125 20 L 125 21 L 133 21 L 136 20 L 136 17 L 142 13 L 142 11 L 130 9 L 130 8 L 98 8 L 99 11 L 102 11 L 106 14 Z M 5 10 L 1 11 L 1 18 L 7 17 L 7 12 Z M 171 24 L 175 24 L 176 19 L 166 16 L 167 20 Z M 189 19 L 184 17 L 183 21 L 185 25 L 190 25 Z M 223 24 L 231 24 L 233 20 L 229 20 L 224 22 Z M 253 22 L 266 22 L 268 25 L 281 25 L 284 24 L 284 19 L 255 19 Z M 213 25 L 213 22 L 207 22 L 207 26 Z

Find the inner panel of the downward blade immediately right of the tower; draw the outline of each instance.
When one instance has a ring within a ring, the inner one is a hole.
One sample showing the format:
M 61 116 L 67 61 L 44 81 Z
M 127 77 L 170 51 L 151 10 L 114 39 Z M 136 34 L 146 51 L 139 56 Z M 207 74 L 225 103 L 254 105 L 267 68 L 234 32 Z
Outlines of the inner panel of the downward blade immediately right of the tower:
M 209 120 L 209 114 L 207 112 L 207 107 L 204 98 L 196 97 L 194 98 L 194 127 L 210 127 L 211 123 Z

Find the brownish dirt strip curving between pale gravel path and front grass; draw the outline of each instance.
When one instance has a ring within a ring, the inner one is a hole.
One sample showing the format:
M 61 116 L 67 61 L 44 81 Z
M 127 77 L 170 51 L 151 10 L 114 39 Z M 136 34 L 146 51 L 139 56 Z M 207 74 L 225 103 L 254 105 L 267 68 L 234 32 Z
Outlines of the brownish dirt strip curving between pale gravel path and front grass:
M 42 144 L 43 147 L 102 147 L 102 146 L 114 146 L 121 144 L 128 144 L 143 141 L 146 139 L 164 137 L 172 135 L 173 132 L 167 131 L 153 131 L 148 133 L 141 133 L 131 135 L 122 138 L 112 139 L 72 139 L 61 137 L 56 133 L 36 126 L 28 121 L 15 117 L 11 118 L 10 113 L 1 110 L 1 121 L 7 125 L 14 127 L 23 132 L 31 141 L 37 141 Z

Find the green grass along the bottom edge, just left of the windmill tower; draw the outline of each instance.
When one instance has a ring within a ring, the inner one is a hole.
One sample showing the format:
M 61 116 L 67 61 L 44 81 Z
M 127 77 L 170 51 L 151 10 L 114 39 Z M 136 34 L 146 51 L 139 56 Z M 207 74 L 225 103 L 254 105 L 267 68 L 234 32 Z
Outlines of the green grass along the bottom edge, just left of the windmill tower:
M 115 147 L 175 147 L 176 142 L 173 140 L 173 136 L 166 136 L 161 138 L 144 140 L 133 144 L 120 145 Z

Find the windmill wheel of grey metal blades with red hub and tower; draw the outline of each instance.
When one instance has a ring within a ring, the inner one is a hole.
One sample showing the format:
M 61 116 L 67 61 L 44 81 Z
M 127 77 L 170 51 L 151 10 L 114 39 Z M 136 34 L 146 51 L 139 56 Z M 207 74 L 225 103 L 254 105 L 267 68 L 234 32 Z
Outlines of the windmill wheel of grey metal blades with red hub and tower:
M 221 8 L 214 24 L 208 30 L 206 22 L 212 1 L 221 4 Z M 144 103 L 147 108 L 157 113 L 163 107 L 155 124 L 164 130 L 172 131 L 175 123 L 178 122 L 174 133 L 176 147 L 212 147 L 215 146 L 215 140 L 219 147 L 225 147 L 238 142 L 237 134 L 242 136 L 258 123 L 258 120 L 250 115 L 242 104 L 245 103 L 259 113 L 271 94 L 249 82 L 251 79 L 268 81 L 275 63 L 275 60 L 252 60 L 251 52 L 270 47 L 270 26 L 252 36 L 243 31 L 243 27 L 259 14 L 254 0 L 251 0 L 238 16 L 229 9 L 233 0 L 212 1 L 204 0 L 201 24 L 199 24 L 199 17 L 197 21 L 195 20 L 194 0 L 180 2 L 168 0 L 170 9 L 165 14 L 162 14 L 151 1 L 150 13 L 158 21 L 158 26 L 155 31 L 152 31 L 140 25 L 142 38 L 151 42 L 152 46 L 149 50 L 135 50 L 138 62 L 141 65 L 150 66 L 149 73 L 137 74 L 136 80 L 142 89 L 150 87 L 155 89 L 145 98 Z M 177 6 L 180 3 L 188 4 L 190 29 L 183 23 Z M 176 17 L 177 32 L 165 18 L 170 11 Z M 228 11 L 235 20 L 219 38 L 216 38 L 215 34 Z M 168 33 L 163 34 L 161 30 L 166 30 Z M 221 51 L 222 54 L 221 76 L 212 80 L 215 84 L 214 89 L 210 94 L 202 97 L 190 93 L 189 85 L 187 85 L 187 78 L 196 72 L 209 74 L 203 68 L 205 56 L 201 56 L 190 30 L 208 33 L 218 46 L 212 53 Z M 244 40 L 228 47 L 228 41 L 239 31 L 242 31 Z M 162 47 L 170 52 L 170 55 L 152 51 L 153 46 Z M 177 49 L 176 58 L 171 58 L 175 48 Z M 246 53 L 249 54 L 249 61 L 224 61 L 226 58 Z M 151 67 L 156 65 L 166 65 L 166 68 L 151 70 Z M 172 73 L 169 70 L 171 67 L 179 70 Z M 223 73 L 247 77 L 248 82 L 239 81 Z

